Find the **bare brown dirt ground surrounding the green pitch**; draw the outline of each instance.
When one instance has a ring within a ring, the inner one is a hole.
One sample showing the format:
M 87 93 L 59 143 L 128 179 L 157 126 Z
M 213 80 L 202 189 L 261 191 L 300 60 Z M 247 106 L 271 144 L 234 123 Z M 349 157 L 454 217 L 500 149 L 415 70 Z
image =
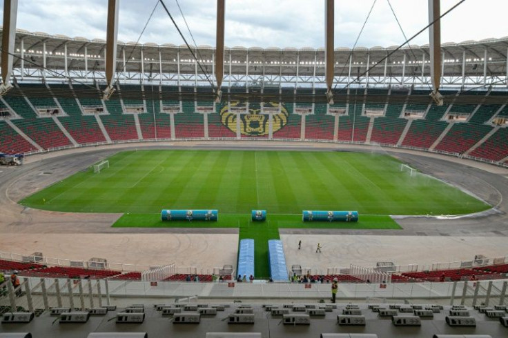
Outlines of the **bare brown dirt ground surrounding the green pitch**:
M 506 168 L 411 150 L 276 141 L 130 143 L 32 155 L 23 166 L 0 167 L 0 250 L 23 255 L 41 251 L 46 257 L 73 260 L 104 257 L 108 261 L 140 266 L 173 262 L 177 266 L 201 269 L 224 264 L 235 266 L 236 229 L 111 228 L 120 214 L 49 212 L 17 204 L 23 197 L 86 170 L 118 151 L 151 148 L 386 151 L 494 207 L 481 215 L 457 219 L 404 217 L 397 219 L 402 230 L 280 230 L 289 265 L 327 268 L 394 261 L 401 265 L 428 266 L 436 261 L 470 260 L 477 254 L 508 255 Z M 302 250 L 295 250 L 295 243 L 303 236 Z M 322 255 L 315 254 L 318 242 L 326 243 Z

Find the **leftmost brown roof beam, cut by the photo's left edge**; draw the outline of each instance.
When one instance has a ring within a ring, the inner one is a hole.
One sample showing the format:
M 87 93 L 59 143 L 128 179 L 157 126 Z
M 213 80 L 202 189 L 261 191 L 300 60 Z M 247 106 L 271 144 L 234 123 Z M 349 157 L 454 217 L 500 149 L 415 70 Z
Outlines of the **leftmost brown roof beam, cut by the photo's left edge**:
M 12 74 L 12 55 L 14 54 L 14 42 L 16 41 L 16 19 L 18 12 L 18 0 L 3 1 L 3 32 L 1 52 L 2 83 L 0 97 L 11 87 L 10 75 Z

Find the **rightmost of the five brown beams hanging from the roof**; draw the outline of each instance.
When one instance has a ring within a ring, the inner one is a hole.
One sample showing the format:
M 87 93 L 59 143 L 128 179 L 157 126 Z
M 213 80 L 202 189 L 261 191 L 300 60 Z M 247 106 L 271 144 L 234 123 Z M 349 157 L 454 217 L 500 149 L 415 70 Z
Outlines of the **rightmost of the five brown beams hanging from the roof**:
M 431 97 L 438 106 L 442 106 L 442 96 L 439 93 L 441 83 L 441 21 L 440 0 L 429 0 L 429 49 L 431 57 Z M 435 21 L 435 22 L 434 22 Z

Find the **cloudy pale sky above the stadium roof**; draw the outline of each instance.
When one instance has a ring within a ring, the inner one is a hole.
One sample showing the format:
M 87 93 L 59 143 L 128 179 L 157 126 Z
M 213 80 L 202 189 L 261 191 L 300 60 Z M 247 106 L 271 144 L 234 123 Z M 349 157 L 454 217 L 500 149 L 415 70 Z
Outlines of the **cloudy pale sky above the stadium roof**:
M 427 26 L 427 0 L 390 0 L 409 38 Z M 441 12 L 459 0 L 441 0 Z M 3 1 L 2 1 L 3 3 Z M 19 0 L 17 28 L 87 39 L 106 38 L 107 0 Z M 157 0 L 120 0 L 119 40 L 137 41 Z M 164 0 L 193 45 L 176 0 Z M 335 47 L 353 47 L 374 0 L 335 1 Z M 179 0 L 197 45 L 215 46 L 216 0 Z M 2 6 L 3 8 L 3 6 Z M 442 20 L 442 42 L 508 36 L 508 0 L 466 0 Z M 182 44 L 161 4 L 141 42 Z M 393 46 L 404 42 L 388 0 L 377 0 L 357 46 Z M 424 32 L 411 41 L 428 43 Z M 324 46 L 324 0 L 226 0 L 228 47 Z

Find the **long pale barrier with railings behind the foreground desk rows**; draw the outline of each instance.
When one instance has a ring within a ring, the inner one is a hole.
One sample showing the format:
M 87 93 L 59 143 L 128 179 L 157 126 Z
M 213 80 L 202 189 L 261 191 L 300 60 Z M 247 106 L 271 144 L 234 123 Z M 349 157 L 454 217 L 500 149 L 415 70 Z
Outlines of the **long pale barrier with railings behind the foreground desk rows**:
M 339 283 L 338 299 L 383 299 L 388 302 L 439 301 L 450 305 L 508 305 L 508 280 L 456 281 L 444 283 L 409 284 L 350 284 Z M 214 299 L 328 299 L 331 284 L 295 283 L 235 283 L 211 284 L 185 282 L 115 281 L 108 279 L 43 279 L 22 278 L 14 289 L 5 282 L 0 306 L 23 307 L 26 310 L 53 307 L 94 308 L 114 303 L 123 297 L 182 297 Z M 439 300 L 438 300 L 439 299 Z M 113 304 L 114 305 L 114 304 Z

